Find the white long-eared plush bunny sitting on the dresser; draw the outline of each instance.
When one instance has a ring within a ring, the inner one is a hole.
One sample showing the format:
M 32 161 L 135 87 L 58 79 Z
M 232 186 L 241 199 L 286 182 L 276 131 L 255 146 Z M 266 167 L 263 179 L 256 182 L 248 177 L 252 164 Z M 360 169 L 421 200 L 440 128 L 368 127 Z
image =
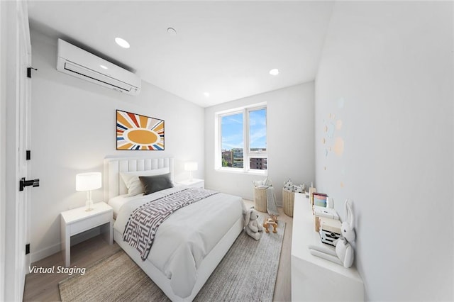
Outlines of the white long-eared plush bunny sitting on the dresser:
M 350 201 L 347 199 L 345 201 L 345 213 L 346 219 L 341 224 L 341 234 L 342 237 L 334 240 L 332 243 L 336 248 L 329 249 L 328 247 L 317 247 L 315 245 L 309 245 L 309 250 L 311 254 L 323 259 L 327 259 L 331 262 L 343 265 L 343 267 L 351 267 L 353 264 L 353 259 L 355 258 L 355 253 L 353 247 L 349 242 L 355 241 L 355 217 L 353 216 L 353 210 Z

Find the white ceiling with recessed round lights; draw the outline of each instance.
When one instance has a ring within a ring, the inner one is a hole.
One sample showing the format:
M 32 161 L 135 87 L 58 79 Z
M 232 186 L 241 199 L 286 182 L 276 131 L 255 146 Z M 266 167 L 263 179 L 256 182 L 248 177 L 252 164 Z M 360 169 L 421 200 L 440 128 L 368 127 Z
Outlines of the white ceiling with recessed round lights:
M 331 1 L 54 0 L 29 1 L 28 15 L 32 29 L 206 107 L 314 80 L 332 6 Z M 167 33 L 170 27 L 177 35 Z M 131 47 L 119 47 L 116 37 Z M 274 68 L 277 76 L 269 74 Z

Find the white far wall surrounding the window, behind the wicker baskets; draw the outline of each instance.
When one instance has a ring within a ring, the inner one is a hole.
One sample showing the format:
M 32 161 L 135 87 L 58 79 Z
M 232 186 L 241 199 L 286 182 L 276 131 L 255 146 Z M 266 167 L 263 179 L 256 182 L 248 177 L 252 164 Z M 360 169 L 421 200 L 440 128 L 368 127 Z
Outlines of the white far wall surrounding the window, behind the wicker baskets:
M 267 102 L 268 177 L 282 204 L 284 181 L 314 181 L 314 82 L 205 108 L 205 186 L 253 199 L 252 181 L 265 177 L 214 169 L 215 113 L 262 102 Z

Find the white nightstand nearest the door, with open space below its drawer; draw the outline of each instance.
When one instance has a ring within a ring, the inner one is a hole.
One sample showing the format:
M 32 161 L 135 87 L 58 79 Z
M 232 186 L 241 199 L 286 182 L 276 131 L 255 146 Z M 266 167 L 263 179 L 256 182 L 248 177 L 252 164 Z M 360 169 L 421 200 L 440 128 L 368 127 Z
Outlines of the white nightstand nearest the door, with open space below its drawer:
M 104 233 L 106 241 L 110 245 L 113 243 L 113 217 L 114 209 L 104 202 L 94 203 L 92 211 L 85 211 L 85 207 L 80 207 L 61 213 L 60 237 L 65 267 L 71 264 L 71 236 L 101 226 L 101 233 Z

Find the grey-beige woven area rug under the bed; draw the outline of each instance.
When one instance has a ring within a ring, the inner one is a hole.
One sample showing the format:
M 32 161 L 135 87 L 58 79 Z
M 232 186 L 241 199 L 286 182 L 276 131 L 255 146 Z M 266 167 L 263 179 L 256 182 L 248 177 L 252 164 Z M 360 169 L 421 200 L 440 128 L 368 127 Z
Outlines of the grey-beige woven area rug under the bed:
M 272 301 L 284 230 L 279 221 L 258 241 L 243 230 L 194 301 Z M 58 286 L 63 302 L 170 301 L 123 250 Z

